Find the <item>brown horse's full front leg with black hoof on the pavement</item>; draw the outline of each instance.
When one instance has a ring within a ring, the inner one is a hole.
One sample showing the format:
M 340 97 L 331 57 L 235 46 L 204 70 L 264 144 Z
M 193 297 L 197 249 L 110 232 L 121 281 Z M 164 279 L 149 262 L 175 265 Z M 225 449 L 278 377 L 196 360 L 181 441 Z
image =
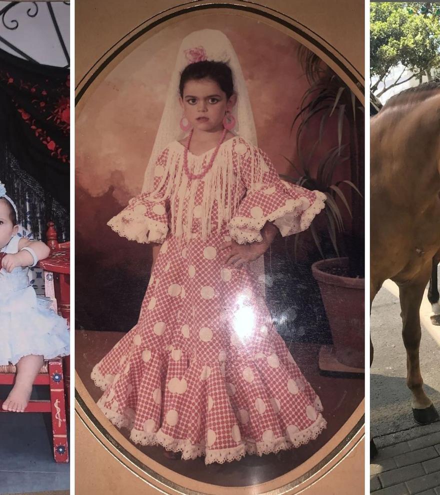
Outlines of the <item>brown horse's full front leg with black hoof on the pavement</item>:
M 430 266 L 426 265 L 416 278 L 399 284 L 402 337 L 406 349 L 406 384 L 412 393 L 412 413 L 419 424 L 439 419 L 437 411 L 423 390 L 418 355 L 421 338 L 419 310 L 429 273 Z

